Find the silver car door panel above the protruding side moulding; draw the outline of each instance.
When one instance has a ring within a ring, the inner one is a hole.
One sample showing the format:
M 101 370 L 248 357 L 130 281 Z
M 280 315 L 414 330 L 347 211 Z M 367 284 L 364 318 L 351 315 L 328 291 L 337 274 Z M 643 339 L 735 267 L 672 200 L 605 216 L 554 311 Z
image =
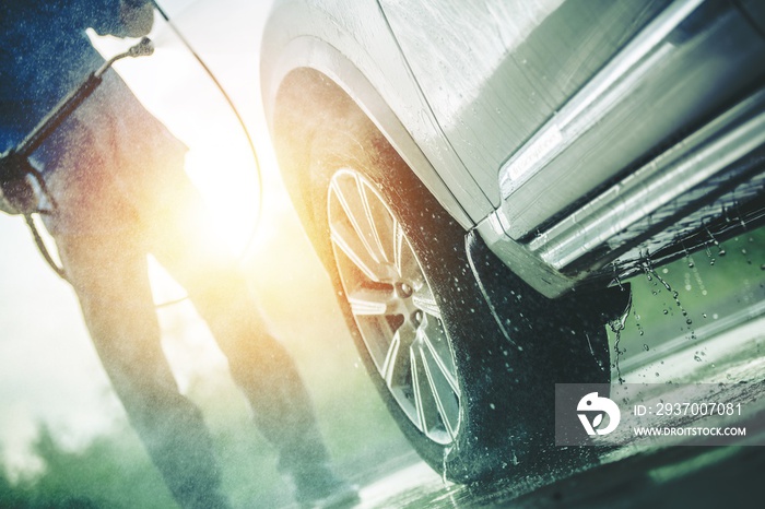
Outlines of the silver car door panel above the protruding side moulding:
M 380 3 L 447 138 L 499 206 L 503 163 L 668 2 Z

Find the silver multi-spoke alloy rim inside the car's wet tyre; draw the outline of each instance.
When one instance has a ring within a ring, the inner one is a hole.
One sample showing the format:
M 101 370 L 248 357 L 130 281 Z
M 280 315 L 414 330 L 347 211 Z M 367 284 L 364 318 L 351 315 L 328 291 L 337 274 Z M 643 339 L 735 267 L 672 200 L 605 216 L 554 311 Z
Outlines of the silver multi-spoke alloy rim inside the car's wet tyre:
M 455 441 L 460 390 L 442 311 L 401 223 L 361 174 L 342 169 L 328 193 L 332 248 L 351 312 L 377 372 L 432 441 Z

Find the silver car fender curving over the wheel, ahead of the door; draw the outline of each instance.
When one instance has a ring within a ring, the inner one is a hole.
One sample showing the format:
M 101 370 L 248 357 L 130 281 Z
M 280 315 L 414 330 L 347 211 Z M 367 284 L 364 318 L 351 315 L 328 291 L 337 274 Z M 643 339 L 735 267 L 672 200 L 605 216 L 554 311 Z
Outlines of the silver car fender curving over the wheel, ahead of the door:
M 279 88 L 291 71 L 321 72 L 349 92 L 439 202 L 471 227 L 493 211 L 492 203 L 446 140 L 407 61 L 391 48 L 398 48 L 396 39 L 375 2 L 275 2 L 261 62 L 267 120 L 273 122 Z

